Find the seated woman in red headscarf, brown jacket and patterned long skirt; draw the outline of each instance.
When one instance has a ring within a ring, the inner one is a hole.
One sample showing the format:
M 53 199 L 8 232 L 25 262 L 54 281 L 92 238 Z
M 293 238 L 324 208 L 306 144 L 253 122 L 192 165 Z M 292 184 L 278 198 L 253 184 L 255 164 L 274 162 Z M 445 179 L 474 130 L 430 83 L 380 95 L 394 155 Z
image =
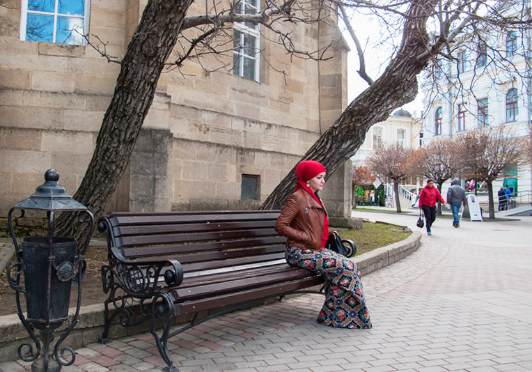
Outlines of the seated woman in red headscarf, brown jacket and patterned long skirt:
M 371 328 L 360 272 L 349 258 L 324 248 L 329 237 L 327 210 L 318 197 L 325 184 L 325 168 L 320 162 L 297 165 L 297 186 L 290 195 L 275 230 L 288 238 L 285 257 L 288 264 L 321 274 L 326 280 L 325 302 L 318 323 L 329 327 Z

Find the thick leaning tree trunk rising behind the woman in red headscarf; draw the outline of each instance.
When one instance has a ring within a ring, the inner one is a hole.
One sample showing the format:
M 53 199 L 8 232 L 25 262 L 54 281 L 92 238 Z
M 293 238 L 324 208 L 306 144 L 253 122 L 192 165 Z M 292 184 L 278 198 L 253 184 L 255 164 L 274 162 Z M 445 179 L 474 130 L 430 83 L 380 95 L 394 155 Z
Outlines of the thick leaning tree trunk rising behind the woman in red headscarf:
M 420 61 L 418 56 L 426 51 L 428 34 L 425 25 L 434 6 L 435 1 L 412 3 L 407 11 L 397 56 L 382 76 L 351 102 L 335 123 L 311 146 L 302 160 L 321 162 L 330 176 L 354 155 L 373 124 L 386 120 L 393 109 L 414 100 L 418 91 L 416 75 L 430 59 L 427 55 Z M 272 194 L 269 194 L 260 209 L 282 208 L 296 181 L 294 166 Z

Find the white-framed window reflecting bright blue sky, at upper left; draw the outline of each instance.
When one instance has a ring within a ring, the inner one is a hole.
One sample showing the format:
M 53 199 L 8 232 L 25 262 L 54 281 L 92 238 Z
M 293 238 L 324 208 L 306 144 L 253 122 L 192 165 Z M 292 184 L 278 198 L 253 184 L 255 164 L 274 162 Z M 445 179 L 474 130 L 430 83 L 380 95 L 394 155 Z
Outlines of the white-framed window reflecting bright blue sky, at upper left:
M 86 45 L 91 0 L 22 0 L 20 40 Z

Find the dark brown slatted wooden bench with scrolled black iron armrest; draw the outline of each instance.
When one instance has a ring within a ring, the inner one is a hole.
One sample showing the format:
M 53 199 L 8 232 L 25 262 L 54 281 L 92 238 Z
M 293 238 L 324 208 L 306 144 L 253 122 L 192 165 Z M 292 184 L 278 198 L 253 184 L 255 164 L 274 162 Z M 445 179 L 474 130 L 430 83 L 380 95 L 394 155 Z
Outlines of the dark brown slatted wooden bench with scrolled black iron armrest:
M 320 275 L 286 263 L 286 239 L 274 230 L 278 216 L 278 210 L 115 212 L 100 219 L 109 249 L 100 342 L 116 317 L 125 327 L 151 320 L 163 371 L 177 371 L 167 348 L 176 334 L 253 300 L 322 293 L 305 290 L 323 284 Z M 171 332 L 175 316 L 187 313 L 195 314 L 191 322 Z

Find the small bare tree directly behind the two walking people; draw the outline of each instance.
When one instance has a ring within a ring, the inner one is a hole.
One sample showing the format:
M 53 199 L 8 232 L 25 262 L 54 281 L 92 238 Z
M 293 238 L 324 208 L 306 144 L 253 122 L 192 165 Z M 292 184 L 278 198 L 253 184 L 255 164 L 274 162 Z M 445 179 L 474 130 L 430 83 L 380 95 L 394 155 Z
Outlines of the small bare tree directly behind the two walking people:
M 412 172 L 417 176 L 432 178 L 441 187 L 450 178 L 458 176 L 462 162 L 457 142 L 453 139 L 432 141 L 424 148 L 416 150 L 412 161 Z M 441 215 L 441 203 L 438 201 L 437 213 Z

